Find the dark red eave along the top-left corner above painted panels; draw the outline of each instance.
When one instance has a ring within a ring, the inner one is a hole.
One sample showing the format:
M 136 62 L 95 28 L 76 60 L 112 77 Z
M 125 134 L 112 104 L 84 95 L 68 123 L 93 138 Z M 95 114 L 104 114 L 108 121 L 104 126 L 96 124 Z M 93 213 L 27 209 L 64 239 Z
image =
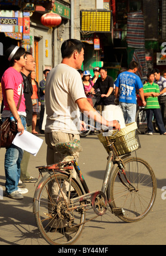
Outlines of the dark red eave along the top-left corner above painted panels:
M 54 6 L 54 0 L 0 0 L 1 10 L 19 10 L 24 9 L 27 3 L 38 4 L 44 8 L 50 10 Z

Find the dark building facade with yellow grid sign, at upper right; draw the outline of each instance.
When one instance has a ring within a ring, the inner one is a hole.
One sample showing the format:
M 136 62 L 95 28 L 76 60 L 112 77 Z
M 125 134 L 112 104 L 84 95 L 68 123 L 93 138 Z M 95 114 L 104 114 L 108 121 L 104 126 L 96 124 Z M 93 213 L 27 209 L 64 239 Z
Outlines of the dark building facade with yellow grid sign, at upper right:
M 109 31 L 104 26 L 108 25 L 108 20 L 104 18 L 103 29 L 95 28 L 94 24 L 96 14 L 106 10 L 111 12 Z M 108 74 L 115 79 L 121 67 L 127 68 L 131 60 L 136 60 L 139 76 L 146 76 L 153 68 L 162 73 L 166 64 L 165 32 L 165 0 L 80 0 L 80 33 L 86 44 L 85 69 L 92 70 L 95 63 L 105 65 Z M 96 47 L 95 43 L 98 43 Z

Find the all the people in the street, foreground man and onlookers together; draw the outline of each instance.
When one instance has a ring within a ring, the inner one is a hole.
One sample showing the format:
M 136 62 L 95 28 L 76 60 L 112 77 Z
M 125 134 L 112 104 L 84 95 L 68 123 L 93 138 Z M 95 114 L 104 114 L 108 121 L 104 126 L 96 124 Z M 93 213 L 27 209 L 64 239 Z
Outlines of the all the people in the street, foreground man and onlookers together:
M 62 62 L 51 70 L 44 70 L 44 79 L 38 85 L 32 54 L 12 45 L 5 55 L 10 66 L 1 79 L 4 102 L 2 122 L 12 116 L 17 121 L 20 136 L 24 130 L 38 135 L 36 125 L 37 115 L 40 114 L 39 130 L 45 133 L 48 165 L 63 160 L 63 153 L 56 151 L 56 143 L 79 140 L 80 130 L 86 129 L 85 122 L 80 121 L 80 111 L 87 112 L 90 119 L 112 129 L 120 130 L 126 122 L 135 121 L 136 92 L 147 111 L 148 134 L 153 134 L 151 119 L 154 114 L 160 134 L 166 135 L 166 79 L 160 76 L 157 69 L 147 75 L 148 82 L 144 85 L 135 74 L 138 69 L 136 62 L 131 62 L 128 69 L 122 69 L 116 81 L 107 75 L 104 66 L 95 67 L 91 78 L 89 70 L 80 70 L 84 44 L 69 39 L 61 46 Z M 101 111 L 91 104 L 96 91 L 101 95 L 97 102 Z M 20 94 L 22 98 L 17 110 Z M 47 118 L 45 130 L 42 130 L 45 108 Z M 74 156 L 77 159 L 79 152 L 75 152 Z M 8 197 L 22 199 L 23 194 L 28 192 L 24 182 L 37 181 L 28 173 L 29 157 L 28 152 L 13 144 L 6 149 L 4 170 Z

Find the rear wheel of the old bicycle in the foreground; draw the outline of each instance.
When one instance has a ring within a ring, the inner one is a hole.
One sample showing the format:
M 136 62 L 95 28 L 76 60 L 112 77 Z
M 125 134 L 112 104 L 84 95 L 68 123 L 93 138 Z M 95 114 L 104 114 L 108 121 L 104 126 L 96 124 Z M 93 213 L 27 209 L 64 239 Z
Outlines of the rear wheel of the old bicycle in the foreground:
M 51 194 L 51 191 L 53 191 L 53 185 L 54 189 L 58 186 L 56 179 L 60 185 L 64 182 L 61 188 L 63 193 L 60 192 L 58 187 L 59 199 L 57 203 L 55 201 L 57 199 L 58 190 L 54 195 Z M 66 199 L 69 192 L 67 192 L 66 189 L 64 190 L 64 188 L 68 185 L 69 175 L 63 173 L 48 174 L 39 182 L 34 194 L 35 205 L 33 207 L 35 208 L 35 221 L 40 234 L 46 242 L 51 245 L 73 244 L 77 238 L 79 238 L 84 228 L 84 224 L 81 223 L 85 220 L 85 212 L 75 210 L 72 212 L 70 211 L 70 215 L 73 217 L 72 227 L 66 227 L 68 218 L 66 217 L 65 211 L 68 214 L 68 210 L 66 210 L 64 198 Z M 82 195 L 79 185 L 77 185 L 74 180 L 71 180 L 71 190 L 72 197 Z M 80 203 L 77 204 L 80 206 Z M 76 225 L 77 227 L 74 227 Z

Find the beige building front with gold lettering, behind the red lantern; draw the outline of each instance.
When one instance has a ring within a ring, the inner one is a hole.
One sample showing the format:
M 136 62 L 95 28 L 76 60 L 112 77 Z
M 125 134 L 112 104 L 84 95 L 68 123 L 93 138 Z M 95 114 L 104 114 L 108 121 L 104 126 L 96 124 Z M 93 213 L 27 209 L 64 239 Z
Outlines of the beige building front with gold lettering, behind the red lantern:
M 59 14 L 61 23 L 55 27 L 46 27 L 40 18 L 48 11 L 42 6 L 37 6 L 30 17 L 30 45 L 37 64 L 37 79 L 43 79 L 43 70 L 51 69 L 61 62 L 61 44 L 70 38 L 70 6 L 57 1 L 51 9 Z

